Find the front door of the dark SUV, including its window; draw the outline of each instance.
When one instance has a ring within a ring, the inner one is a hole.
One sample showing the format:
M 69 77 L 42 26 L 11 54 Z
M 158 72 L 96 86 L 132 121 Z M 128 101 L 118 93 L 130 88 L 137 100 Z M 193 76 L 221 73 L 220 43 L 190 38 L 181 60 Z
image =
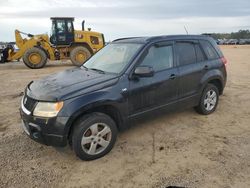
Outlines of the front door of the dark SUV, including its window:
M 130 81 L 130 116 L 177 101 L 177 68 L 174 65 L 173 42 L 149 47 L 139 66 L 152 67 L 154 76 Z

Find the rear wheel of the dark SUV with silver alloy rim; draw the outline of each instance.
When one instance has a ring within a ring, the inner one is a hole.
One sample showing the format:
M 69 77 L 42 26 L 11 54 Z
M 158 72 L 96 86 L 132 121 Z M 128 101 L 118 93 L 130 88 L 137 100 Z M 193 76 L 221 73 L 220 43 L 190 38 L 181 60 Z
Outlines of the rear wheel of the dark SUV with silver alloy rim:
M 202 92 L 199 105 L 195 107 L 195 110 L 199 114 L 208 115 L 213 113 L 218 105 L 219 90 L 213 84 L 208 84 Z

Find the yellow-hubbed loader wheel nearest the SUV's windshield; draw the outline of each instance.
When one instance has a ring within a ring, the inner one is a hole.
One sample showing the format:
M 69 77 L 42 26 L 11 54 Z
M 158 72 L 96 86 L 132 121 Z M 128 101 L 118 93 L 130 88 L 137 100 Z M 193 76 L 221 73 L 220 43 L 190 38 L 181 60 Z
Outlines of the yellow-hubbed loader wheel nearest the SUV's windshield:
M 90 51 L 84 46 L 77 46 L 70 52 L 70 59 L 75 66 L 81 66 L 88 58 Z

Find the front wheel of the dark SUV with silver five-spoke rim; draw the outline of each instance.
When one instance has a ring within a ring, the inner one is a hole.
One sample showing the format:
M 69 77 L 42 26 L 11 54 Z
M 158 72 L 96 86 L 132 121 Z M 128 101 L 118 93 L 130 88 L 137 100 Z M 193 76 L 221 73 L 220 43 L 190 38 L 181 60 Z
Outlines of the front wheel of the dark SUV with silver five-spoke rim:
M 91 113 L 76 122 L 72 148 L 80 159 L 94 160 L 111 151 L 116 137 L 117 127 L 113 119 L 103 113 Z

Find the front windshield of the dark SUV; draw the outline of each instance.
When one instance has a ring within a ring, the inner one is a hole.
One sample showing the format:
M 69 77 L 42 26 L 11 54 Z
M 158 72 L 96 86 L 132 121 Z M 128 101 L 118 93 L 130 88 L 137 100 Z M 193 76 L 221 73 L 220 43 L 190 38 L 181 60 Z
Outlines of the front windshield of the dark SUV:
M 84 63 L 84 67 L 119 74 L 141 46 L 132 43 L 109 44 Z

